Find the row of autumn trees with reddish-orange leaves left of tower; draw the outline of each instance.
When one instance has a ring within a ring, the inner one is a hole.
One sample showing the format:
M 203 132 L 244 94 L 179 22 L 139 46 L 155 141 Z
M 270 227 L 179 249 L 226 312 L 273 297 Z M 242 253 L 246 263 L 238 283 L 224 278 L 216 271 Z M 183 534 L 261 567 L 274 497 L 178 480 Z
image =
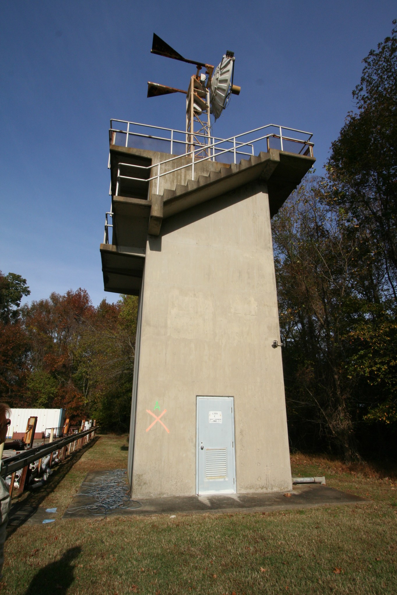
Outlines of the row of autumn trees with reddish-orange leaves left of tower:
M 128 430 L 137 298 L 95 308 L 80 288 L 21 307 L 29 293 L 20 275 L 0 275 L 0 398 Z

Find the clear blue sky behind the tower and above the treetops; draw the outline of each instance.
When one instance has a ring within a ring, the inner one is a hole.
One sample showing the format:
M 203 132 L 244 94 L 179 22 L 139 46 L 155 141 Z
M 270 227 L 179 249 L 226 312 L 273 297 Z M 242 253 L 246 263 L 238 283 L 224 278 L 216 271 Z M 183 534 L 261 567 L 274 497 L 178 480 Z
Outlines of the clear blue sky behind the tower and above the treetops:
M 110 197 L 110 118 L 184 129 L 187 64 L 151 55 L 153 33 L 186 58 L 235 52 L 242 87 L 214 127 L 227 138 L 268 123 L 314 133 L 317 172 L 360 81 L 362 58 L 392 30 L 394 1 L 9 0 L 0 24 L 0 270 L 30 299 L 105 293 L 99 244 Z

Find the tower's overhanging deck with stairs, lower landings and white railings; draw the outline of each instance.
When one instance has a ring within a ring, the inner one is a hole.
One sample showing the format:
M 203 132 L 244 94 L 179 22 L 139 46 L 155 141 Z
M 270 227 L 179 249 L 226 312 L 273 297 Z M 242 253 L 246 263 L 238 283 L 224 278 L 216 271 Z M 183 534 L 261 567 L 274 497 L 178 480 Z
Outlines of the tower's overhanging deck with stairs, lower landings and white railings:
M 148 239 L 182 211 L 264 181 L 273 217 L 315 162 L 311 139 L 268 124 L 229 139 L 203 136 L 192 148 L 186 131 L 111 120 L 111 209 L 100 247 L 105 291 L 139 295 Z

